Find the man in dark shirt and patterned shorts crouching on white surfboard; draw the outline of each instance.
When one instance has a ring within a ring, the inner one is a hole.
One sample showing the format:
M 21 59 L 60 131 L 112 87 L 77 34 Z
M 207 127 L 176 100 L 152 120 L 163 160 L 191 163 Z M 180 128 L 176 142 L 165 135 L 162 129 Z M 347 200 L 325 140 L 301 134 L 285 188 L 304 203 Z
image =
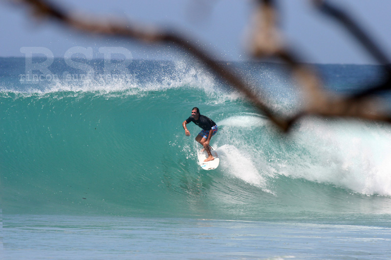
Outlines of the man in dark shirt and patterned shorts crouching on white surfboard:
M 186 136 L 190 136 L 190 132 L 189 130 L 187 130 L 186 127 L 186 124 L 190 122 L 194 122 L 196 125 L 202 128 L 202 131 L 199 132 L 195 140 L 199 142 L 208 153 L 208 158 L 204 161 L 215 160 L 215 158 L 213 158 L 211 150 L 209 149 L 209 143 L 211 141 L 212 136 L 217 133 L 216 123 L 210 118 L 200 115 L 199 109 L 197 107 L 194 107 L 192 109 L 192 115 L 188 119 L 184 120 L 182 123 L 183 129 L 185 129 Z

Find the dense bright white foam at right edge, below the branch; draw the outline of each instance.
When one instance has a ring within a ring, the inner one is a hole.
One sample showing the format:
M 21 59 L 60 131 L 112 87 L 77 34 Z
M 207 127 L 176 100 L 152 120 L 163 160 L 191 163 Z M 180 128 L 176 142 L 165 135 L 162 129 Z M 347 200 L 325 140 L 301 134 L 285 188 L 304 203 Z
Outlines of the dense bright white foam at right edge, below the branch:
M 390 126 L 314 120 L 305 121 L 295 136 L 309 154 L 296 158 L 299 163 L 287 175 L 391 196 Z

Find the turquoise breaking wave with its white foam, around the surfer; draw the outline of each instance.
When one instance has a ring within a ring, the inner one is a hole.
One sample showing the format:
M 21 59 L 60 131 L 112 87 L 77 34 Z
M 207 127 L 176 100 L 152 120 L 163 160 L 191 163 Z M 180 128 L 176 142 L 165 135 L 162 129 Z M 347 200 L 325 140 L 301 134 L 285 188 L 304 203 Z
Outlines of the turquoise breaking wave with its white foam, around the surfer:
M 262 66 L 251 73 L 275 90 L 267 95 L 277 109 L 290 110 L 297 95 L 270 80 L 275 65 Z M 197 165 L 199 128 L 188 125 L 189 138 L 181 126 L 194 106 L 219 126 L 213 171 Z M 283 136 L 195 65 L 144 62 L 133 77 L 77 84 L 21 86 L 9 75 L 0 107 L 4 214 L 281 220 L 391 213 L 389 125 L 311 119 Z

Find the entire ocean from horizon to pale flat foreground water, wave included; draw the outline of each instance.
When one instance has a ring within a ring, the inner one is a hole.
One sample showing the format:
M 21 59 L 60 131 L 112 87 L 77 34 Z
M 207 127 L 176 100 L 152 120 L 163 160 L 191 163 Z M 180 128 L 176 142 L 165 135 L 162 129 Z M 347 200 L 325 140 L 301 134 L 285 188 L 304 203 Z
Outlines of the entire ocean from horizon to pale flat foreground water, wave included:
M 88 62 L 30 75 L 0 58 L 0 259 L 391 259 L 390 124 L 307 118 L 283 135 L 196 62 Z M 283 65 L 229 65 L 275 111 L 305 103 Z M 382 78 L 316 68 L 342 95 Z M 184 134 L 194 106 L 219 126 L 216 170 L 197 165 L 200 129 Z

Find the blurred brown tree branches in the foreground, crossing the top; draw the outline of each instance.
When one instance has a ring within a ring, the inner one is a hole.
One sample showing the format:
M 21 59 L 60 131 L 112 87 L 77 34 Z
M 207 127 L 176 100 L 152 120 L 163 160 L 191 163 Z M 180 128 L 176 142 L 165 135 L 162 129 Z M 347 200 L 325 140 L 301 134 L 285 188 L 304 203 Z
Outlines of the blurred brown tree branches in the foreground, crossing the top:
M 230 67 L 217 62 L 217 59 L 192 44 L 192 40 L 184 35 L 159 31 L 151 27 L 138 26 L 120 20 L 104 20 L 101 17 L 86 19 L 86 16 L 81 17 L 68 14 L 46 0 L 14 0 L 14 2 L 28 5 L 37 17 L 57 20 L 65 26 L 85 33 L 100 34 L 108 37 L 124 37 L 145 43 L 174 43 L 181 47 L 184 52 L 193 55 L 195 59 L 208 67 L 219 78 L 237 89 L 283 131 L 288 131 L 293 123 L 309 115 L 353 117 L 391 122 L 391 116 L 382 112 L 378 100 L 375 98 L 375 94 L 389 90 L 391 87 L 389 60 L 348 14 L 323 0 L 313 0 L 313 2 L 325 14 L 341 22 L 376 60 L 385 65 L 387 78 L 379 85 L 367 86 L 360 93 L 348 97 L 327 93 L 314 70 L 309 65 L 300 63 L 297 54 L 288 51 L 284 47 L 282 34 L 276 26 L 278 13 L 274 6 L 274 1 L 257 0 L 254 8 L 254 24 L 249 42 L 251 55 L 255 59 L 277 58 L 282 60 L 289 66 L 292 75 L 298 80 L 300 87 L 304 89 L 306 94 L 306 107 L 296 115 L 289 117 L 278 116 L 266 105 L 265 98 L 260 98 L 264 96 L 255 92 L 255 89 L 260 92 L 259 88 L 255 88 L 247 83 L 248 80 L 239 76 Z

